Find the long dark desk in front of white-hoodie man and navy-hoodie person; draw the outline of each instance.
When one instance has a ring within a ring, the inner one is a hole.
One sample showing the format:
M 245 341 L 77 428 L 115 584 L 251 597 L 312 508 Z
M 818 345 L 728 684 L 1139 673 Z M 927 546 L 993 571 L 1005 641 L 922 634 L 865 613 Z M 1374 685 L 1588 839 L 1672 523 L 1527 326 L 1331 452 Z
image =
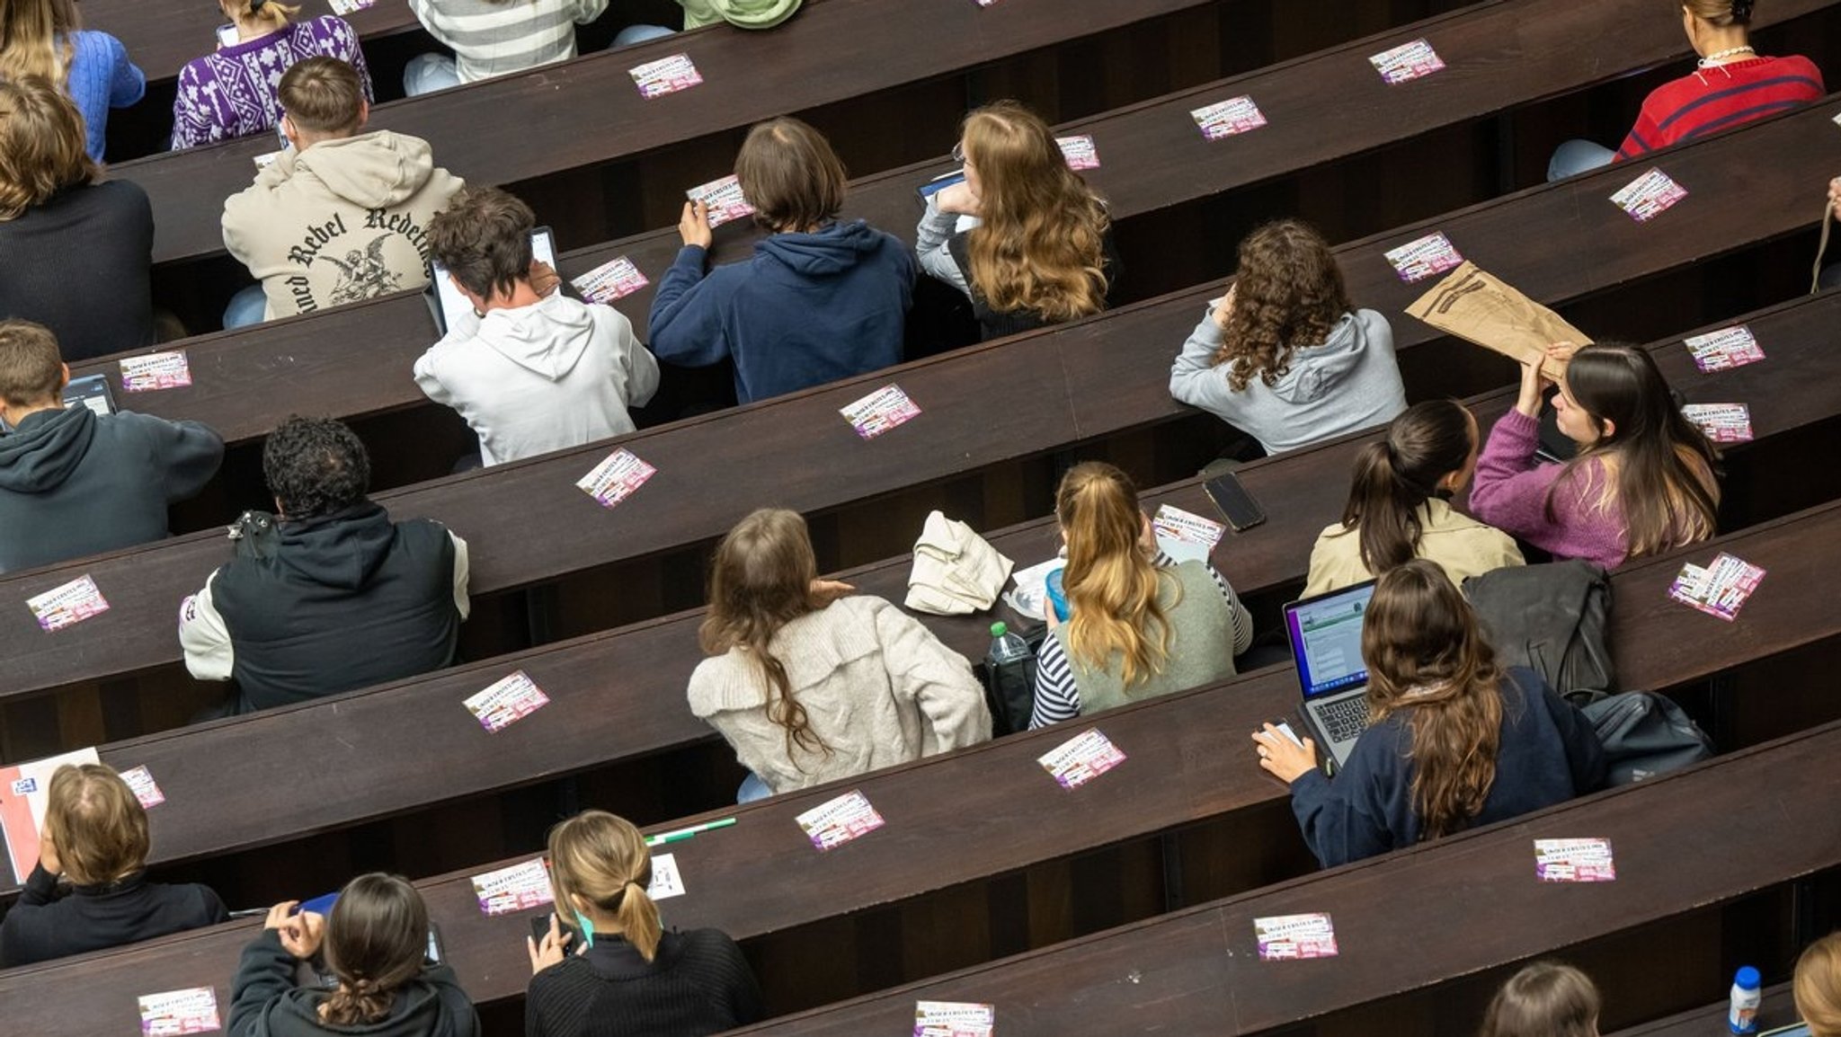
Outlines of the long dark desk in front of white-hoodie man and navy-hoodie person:
M 1800 0 L 1769 13 L 1791 17 L 1826 6 Z M 1681 50 L 1681 37 L 1672 26 L 1666 26 L 1668 33 L 1640 28 L 1655 22 L 1648 4 L 1627 0 L 1604 11 L 1592 9 L 1594 17 L 1615 15 L 1629 24 L 1620 20 L 1618 33 L 1587 35 L 1583 41 L 1569 20 L 1576 15 L 1569 11 L 1587 9 L 1561 0 L 1491 2 L 1169 99 L 1068 123 L 1057 133 L 1094 136 L 1101 168 L 1086 175 L 1106 193 L 1114 217 L 1129 221 L 1539 96 L 1576 90 L 1609 77 L 1609 68 L 1672 59 Z M 1528 33 L 1537 39 L 1524 41 Z M 1554 37 L 1548 39 L 1548 33 Z M 1419 35 L 1436 41 L 1449 68 L 1410 83 L 1412 94 L 1383 85 L 1368 55 Z M 1594 50 L 1591 41 L 1602 41 L 1596 46 L 1604 52 Z M 1521 72 L 1506 76 L 1504 66 Z M 1224 142 L 1204 140 L 1187 112 L 1237 94 L 1257 98 L 1272 123 Z M 1326 107 L 1318 103 L 1322 96 L 1340 101 Z M 946 158 L 939 158 L 856 181 L 847 216 L 869 219 L 911 243 L 919 216 L 913 188 L 944 166 Z M 718 228 L 716 262 L 742 258 L 755 239 L 747 221 Z M 578 276 L 624 254 L 655 284 L 676 258 L 677 245 L 676 230 L 643 234 L 571 252 L 563 258 L 563 273 Z M 1136 260 L 1129 262 L 1127 269 L 1136 265 Z M 617 302 L 641 337 L 650 300 L 652 287 L 646 287 Z M 434 337 L 418 295 L 201 335 L 184 343 L 193 387 L 140 398 L 136 407 L 203 420 L 234 442 L 258 438 L 272 427 L 274 409 L 263 385 L 276 378 L 287 379 L 291 394 L 324 402 L 348 418 L 423 407 L 429 403 L 409 372 Z M 118 374 L 118 361 L 105 357 L 81 365 L 79 374 Z

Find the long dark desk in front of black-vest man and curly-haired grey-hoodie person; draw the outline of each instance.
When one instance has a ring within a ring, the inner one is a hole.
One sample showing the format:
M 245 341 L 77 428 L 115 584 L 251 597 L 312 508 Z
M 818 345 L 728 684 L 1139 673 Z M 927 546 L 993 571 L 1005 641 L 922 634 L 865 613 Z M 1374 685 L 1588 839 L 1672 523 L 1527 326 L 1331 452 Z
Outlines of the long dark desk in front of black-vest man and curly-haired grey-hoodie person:
M 1644 225 L 1607 201 L 1650 168 L 1637 164 L 1349 245 L 1340 256 L 1351 295 L 1395 315 L 1401 368 L 1414 396 L 1480 389 L 1478 370 L 1497 372 L 1488 381 L 1506 381 L 1506 361 L 1478 359 L 1473 346 L 1436 339 L 1429 326 L 1399 317 L 1425 284 L 1401 284 L 1381 256 L 1384 249 L 1438 228 L 1469 258 L 1535 298 L 1559 302 L 1602 293 L 1797 228 L 1800 219 L 1789 216 L 1800 212 L 1795 201 L 1841 164 L 1832 114 L 1828 99 L 1666 155 L 1657 166 L 1692 193 Z M 1169 400 L 1164 372 L 1206 300 L 1219 291 L 1200 285 L 735 414 L 692 418 L 377 499 L 398 518 L 438 518 L 466 536 L 475 549 L 477 593 L 644 558 L 720 536 L 764 503 L 803 512 L 832 508 L 920 484 L 928 475 L 946 477 L 1175 418 L 1186 411 Z M 1453 379 L 1469 385 L 1451 385 Z M 891 435 L 858 440 L 836 411 L 886 381 L 898 381 L 924 413 Z M 619 508 L 602 510 L 574 481 L 613 444 L 628 446 L 659 473 Z M 805 460 L 793 466 L 760 459 Z M 724 492 L 712 495 L 711 486 Z M 525 536 L 528 516 L 543 516 L 554 534 Z M 22 602 L 90 573 L 112 606 L 57 634 L 39 630 L 24 608 L 7 610 L 0 617 L 0 652 L 13 663 L 6 693 L 26 694 L 177 661 L 173 610 L 225 558 L 228 551 L 217 534 L 195 534 L 0 580 L 0 599 Z

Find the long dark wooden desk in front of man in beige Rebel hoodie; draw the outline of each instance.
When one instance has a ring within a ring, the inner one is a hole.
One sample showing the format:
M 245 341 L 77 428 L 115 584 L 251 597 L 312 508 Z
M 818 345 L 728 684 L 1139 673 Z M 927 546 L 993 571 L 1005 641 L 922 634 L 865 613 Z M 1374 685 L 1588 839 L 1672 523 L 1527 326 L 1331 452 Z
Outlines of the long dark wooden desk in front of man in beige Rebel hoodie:
M 370 125 L 429 140 L 434 160 L 468 181 L 510 184 L 637 157 L 1215 2 L 1057 0 L 979 7 L 825 0 L 771 33 L 718 26 L 593 53 L 377 105 Z M 838 41 L 851 41 L 851 46 Z M 663 98 L 641 98 L 628 70 L 674 53 L 689 53 L 703 83 Z M 272 138 L 256 136 L 114 166 L 114 177 L 138 182 L 153 199 L 155 262 L 221 252 L 223 203 L 249 186 L 254 157 L 272 149 Z

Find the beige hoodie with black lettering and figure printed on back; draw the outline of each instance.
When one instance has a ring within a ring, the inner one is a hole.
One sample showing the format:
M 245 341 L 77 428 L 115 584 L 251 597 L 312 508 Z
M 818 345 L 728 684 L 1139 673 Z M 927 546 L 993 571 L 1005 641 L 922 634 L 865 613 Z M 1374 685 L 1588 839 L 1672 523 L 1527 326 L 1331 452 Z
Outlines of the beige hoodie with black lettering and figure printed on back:
M 423 228 L 464 186 L 425 140 L 379 129 L 284 151 L 225 203 L 225 249 L 261 280 L 263 319 L 429 284 Z

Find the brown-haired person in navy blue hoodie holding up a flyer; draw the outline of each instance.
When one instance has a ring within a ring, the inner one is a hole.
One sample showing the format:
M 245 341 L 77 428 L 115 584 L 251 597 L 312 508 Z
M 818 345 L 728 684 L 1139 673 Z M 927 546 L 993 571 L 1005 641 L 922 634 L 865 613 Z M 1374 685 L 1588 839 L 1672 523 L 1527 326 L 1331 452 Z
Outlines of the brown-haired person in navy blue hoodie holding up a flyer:
M 733 357 L 742 403 L 900 363 L 915 263 L 893 236 L 838 221 L 845 175 L 830 142 L 795 118 L 758 123 L 735 177 L 771 234 L 751 260 L 705 274 L 709 210 L 685 203 L 685 247 L 652 297 L 659 359 Z

